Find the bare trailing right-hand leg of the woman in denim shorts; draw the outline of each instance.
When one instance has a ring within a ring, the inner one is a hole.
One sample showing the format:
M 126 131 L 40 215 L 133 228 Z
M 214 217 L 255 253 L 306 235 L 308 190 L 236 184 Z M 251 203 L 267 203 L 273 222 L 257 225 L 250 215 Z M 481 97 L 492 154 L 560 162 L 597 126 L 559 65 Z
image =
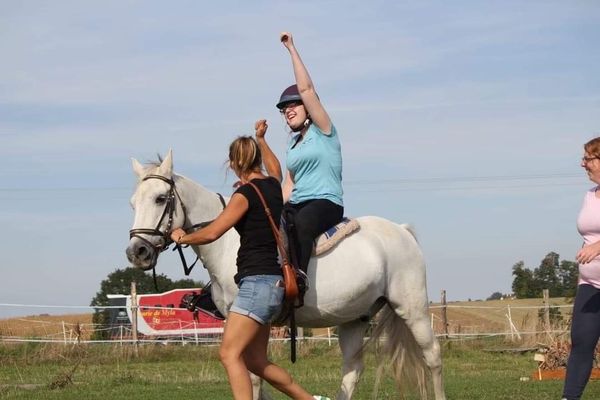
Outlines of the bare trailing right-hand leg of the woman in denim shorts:
M 293 399 L 313 400 L 313 397 L 306 390 L 294 382 L 285 369 L 268 360 L 267 345 L 269 343 L 270 326 L 259 326 L 257 335 L 243 353 L 248 369 Z

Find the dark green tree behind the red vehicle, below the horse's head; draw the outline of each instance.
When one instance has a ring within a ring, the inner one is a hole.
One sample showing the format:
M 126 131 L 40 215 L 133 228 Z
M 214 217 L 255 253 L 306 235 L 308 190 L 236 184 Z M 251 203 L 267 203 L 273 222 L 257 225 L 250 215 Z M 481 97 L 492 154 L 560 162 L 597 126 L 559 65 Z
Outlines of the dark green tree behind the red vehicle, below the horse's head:
M 96 296 L 94 296 L 90 305 L 92 307 L 108 306 L 108 294 L 128 295 L 131 293 L 131 282 L 134 281 L 136 283 L 136 291 L 138 294 L 156 293 L 157 291 L 153 277 L 150 274 L 146 274 L 141 269 L 133 267 L 116 269 L 108 274 L 105 280 L 100 282 L 100 291 L 96 293 Z M 156 275 L 156 286 L 158 286 L 160 291 L 166 292 L 178 288 L 204 287 L 204 283 L 192 279 L 181 279 L 173 282 L 166 275 L 159 274 Z M 92 322 L 99 328 L 106 326 L 110 322 L 109 309 L 96 308 L 94 315 L 92 316 Z M 107 339 L 108 335 L 108 331 L 96 329 L 93 338 Z

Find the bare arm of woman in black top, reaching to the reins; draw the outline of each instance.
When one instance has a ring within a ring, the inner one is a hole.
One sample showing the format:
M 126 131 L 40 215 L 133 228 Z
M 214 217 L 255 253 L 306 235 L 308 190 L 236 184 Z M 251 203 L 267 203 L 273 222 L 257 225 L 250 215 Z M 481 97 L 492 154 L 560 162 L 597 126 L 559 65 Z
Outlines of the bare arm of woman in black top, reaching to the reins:
M 178 244 L 212 243 L 231 229 L 248 211 L 248 200 L 235 193 L 221 214 L 205 228 L 186 234 L 181 228 L 171 232 L 171 239 Z

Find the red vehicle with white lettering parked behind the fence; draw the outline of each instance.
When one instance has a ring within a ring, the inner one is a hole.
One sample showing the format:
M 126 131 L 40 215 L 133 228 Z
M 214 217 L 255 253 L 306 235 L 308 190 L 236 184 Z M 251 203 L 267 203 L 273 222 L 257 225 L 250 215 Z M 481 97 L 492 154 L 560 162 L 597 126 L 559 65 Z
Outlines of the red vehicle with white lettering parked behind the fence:
M 202 289 L 173 289 L 158 294 L 140 294 L 137 296 L 138 332 L 151 337 L 198 336 L 223 333 L 223 320 L 214 315 L 196 309 L 189 311 L 190 298 L 199 295 Z M 131 325 L 131 296 L 122 294 L 108 295 L 112 306 L 111 325 L 113 328 Z M 113 335 L 114 336 L 114 335 Z

